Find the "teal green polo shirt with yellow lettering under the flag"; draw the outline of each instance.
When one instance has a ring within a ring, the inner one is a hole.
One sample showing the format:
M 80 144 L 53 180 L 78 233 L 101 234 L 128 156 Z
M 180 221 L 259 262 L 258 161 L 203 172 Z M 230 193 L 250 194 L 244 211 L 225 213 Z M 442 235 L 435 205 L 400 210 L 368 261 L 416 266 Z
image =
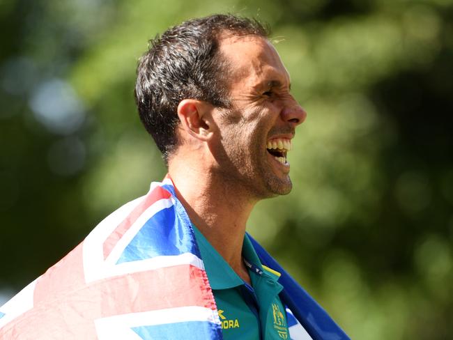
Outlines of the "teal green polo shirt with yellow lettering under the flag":
M 286 312 L 278 295 L 283 288 L 277 282 L 279 273 L 261 264 L 247 235 L 243 257 L 252 286 L 243 281 L 197 227 L 193 227 L 213 288 L 224 339 L 289 339 Z

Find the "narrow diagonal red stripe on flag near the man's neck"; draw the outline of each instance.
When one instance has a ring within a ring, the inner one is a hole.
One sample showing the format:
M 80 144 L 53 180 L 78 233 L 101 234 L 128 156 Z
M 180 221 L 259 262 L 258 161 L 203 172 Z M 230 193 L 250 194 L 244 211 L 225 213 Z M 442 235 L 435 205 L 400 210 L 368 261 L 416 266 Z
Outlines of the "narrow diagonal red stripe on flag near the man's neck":
M 116 229 L 113 231 L 111 235 L 105 240 L 104 242 L 104 259 L 109 256 L 109 254 L 112 252 L 112 249 L 114 249 L 116 243 L 118 243 L 118 240 L 120 240 L 124 233 L 128 231 L 130 226 L 137 221 L 137 219 L 143 214 L 143 212 L 148 209 L 150 206 L 153 205 L 153 203 L 159 201 L 160 199 L 169 199 L 171 197 L 171 194 L 167 191 L 164 190 L 162 187 L 155 187 L 153 191 L 148 192 L 146 197 L 144 198 L 141 203 L 137 207 L 135 207 L 132 212 L 126 217 L 123 222 L 118 224 Z

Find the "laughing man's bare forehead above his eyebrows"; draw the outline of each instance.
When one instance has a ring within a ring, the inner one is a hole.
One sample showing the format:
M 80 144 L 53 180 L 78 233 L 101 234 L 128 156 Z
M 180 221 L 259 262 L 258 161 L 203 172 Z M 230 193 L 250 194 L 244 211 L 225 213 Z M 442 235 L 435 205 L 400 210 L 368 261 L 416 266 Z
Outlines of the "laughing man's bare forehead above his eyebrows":
M 278 82 L 289 86 L 289 73 L 275 47 L 259 36 L 226 36 L 220 39 L 220 52 L 232 70 L 231 85 L 259 86 Z

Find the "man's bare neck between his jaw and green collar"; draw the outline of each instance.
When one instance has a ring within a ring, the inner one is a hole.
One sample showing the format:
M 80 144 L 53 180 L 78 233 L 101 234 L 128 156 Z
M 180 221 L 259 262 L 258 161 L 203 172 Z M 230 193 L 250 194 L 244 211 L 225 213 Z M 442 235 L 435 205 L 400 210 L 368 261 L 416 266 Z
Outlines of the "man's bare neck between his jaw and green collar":
M 211 171 L 202 171 L 187 162 L 171 162 L 169 175 L 192 223 L 231 268 L 249 281 L 242 247 L 247 219 L 256 200 L 233 183 L 215 178 Z

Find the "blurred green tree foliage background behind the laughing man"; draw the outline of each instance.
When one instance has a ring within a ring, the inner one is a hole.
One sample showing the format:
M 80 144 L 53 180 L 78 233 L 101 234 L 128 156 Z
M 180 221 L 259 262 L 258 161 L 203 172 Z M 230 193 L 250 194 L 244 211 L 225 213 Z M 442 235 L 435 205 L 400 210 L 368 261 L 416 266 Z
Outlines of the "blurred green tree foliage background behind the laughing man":
M 308 112 L 249 232 L 353 339 L 453 339 L 452 0 L 1 0 L 0 303 L 164 176 L 137 59 L 218 12 L 272 26 Z

